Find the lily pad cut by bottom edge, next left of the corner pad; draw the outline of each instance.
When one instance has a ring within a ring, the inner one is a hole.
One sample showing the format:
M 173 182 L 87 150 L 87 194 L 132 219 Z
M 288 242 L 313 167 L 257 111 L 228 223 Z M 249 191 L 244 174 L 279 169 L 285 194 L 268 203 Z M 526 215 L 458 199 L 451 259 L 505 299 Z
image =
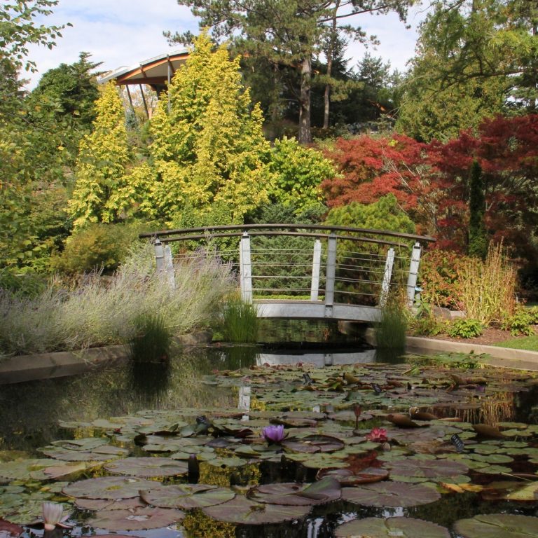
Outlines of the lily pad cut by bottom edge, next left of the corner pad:
M 336 527 L 336 538 L 450 538 L 445 527 L 414 518 L 364 518 Z

